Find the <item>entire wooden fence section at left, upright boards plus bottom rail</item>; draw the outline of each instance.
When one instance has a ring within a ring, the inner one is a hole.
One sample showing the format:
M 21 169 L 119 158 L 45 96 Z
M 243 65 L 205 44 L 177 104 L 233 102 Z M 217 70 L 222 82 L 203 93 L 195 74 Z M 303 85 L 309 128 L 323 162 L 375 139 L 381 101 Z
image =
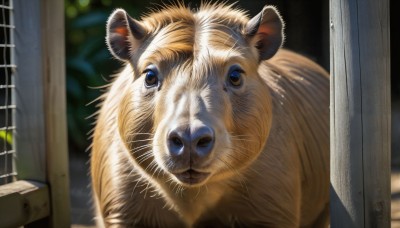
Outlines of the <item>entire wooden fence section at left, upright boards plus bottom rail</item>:
M 11 3 L 18 181 L 0 186 L 0 226 L 70 227 L 64 1 Z

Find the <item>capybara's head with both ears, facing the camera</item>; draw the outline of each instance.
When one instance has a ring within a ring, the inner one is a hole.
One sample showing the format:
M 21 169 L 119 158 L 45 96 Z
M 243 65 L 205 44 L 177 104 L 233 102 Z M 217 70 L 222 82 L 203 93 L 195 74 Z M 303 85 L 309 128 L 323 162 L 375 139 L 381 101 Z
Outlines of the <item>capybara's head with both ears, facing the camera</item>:
M 275 8 L 249 20 L 231 6 L 178 6 L 140 21 L 118 9 L 107 30 L 110 51 L 131 66 L 118 128 L 143 174 L 196 187 L 257 158 L 272 118 L 257 70 L 283 40 Z

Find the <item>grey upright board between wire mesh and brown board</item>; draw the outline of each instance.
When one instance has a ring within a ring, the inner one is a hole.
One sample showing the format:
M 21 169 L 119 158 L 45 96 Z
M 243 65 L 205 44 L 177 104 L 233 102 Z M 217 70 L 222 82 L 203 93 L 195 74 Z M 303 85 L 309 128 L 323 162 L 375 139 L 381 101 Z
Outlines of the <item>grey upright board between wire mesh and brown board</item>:
M 46 181 L 40 0 L 14 0 L 18 179 Z

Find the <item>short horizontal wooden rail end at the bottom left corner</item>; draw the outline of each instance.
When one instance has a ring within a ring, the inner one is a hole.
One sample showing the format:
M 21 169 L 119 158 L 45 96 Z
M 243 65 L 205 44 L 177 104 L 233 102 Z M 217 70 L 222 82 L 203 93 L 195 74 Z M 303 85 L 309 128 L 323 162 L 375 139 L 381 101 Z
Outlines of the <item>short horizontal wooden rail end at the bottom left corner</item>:
M 1 227 L 18 227 L 50 214 L 46 185 L 33 181 L 16 181 L 0 186 Z

